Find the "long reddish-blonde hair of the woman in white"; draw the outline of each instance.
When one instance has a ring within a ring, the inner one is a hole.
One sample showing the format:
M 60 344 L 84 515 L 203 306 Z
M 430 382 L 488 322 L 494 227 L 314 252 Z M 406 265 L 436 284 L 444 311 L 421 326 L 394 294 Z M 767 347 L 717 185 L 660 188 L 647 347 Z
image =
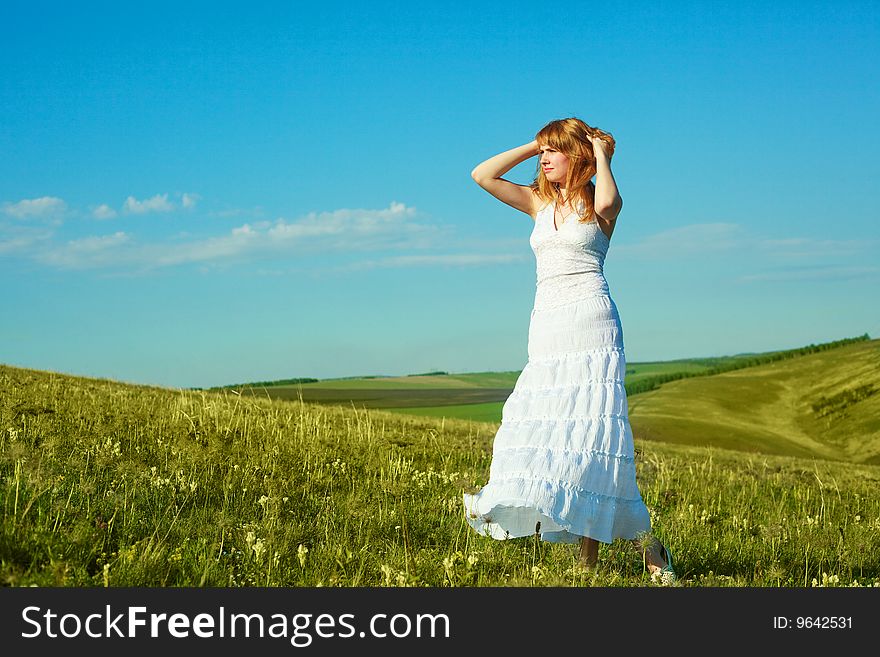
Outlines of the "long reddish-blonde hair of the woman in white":
M 559 183 L 547 180 L 540 159 L 531 188 L 546 203 L 557 201 L 569 205 L 578 214 L 578 221 L 581 223 L 586 223 L 593 215 L 593 197 L 596 192 L 590 185 L 596 175 L 596 156 L 593 153 L 593 142 L 590 141 L 592 137 L 599 137 L 607 144 L 605 151 L 609 158 L 614 154 L 614 137 L 574 117 L 551 121 L 535 135 L 539 144 L 549 146 L 568 157 L 568 175 L 565 179 L 567 195 L 563 198 Z M 584 204 L 583 215 L 578 212 L 578 201 Z

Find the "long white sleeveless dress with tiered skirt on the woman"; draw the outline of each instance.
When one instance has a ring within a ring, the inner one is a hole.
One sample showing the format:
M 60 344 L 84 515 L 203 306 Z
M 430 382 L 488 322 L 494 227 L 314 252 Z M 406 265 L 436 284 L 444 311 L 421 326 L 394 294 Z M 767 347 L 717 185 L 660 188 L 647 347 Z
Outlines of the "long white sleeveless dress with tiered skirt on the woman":
M 465 517 L 501 540 L 636 538 L 651 519 L 636 484 L 623 328 L 603 269 L 610 240 L 594 217 L 572 214 L 557 228 L 551 203 L 529 243 L 537 289 L 528 362 L 502 408 L 489 482 L 464 494 Z

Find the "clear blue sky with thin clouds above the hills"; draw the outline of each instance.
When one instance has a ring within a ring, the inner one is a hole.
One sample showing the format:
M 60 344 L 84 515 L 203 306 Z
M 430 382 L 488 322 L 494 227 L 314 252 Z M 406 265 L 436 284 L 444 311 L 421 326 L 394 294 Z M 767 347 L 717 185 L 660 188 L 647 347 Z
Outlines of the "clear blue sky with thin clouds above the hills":
M 4 3 L 0 362 L 519 370 L 533 224 L 470 171 L 566 116 L 629 361 L 876 337 L 878 6 Z

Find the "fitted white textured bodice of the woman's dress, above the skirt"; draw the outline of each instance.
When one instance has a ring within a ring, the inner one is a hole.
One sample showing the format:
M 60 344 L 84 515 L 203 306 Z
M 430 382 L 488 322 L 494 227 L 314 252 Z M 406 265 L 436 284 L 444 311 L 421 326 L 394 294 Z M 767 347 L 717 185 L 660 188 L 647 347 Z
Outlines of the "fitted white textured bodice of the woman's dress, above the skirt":
M 548 203 L 538 211 L 529 237 L 537 261 L 536 309 L 609 293 L 604 272 L 608 236 L 595 218 L 580 222 L 574 213 L 557 227 L 554 209 L 555 203 Z

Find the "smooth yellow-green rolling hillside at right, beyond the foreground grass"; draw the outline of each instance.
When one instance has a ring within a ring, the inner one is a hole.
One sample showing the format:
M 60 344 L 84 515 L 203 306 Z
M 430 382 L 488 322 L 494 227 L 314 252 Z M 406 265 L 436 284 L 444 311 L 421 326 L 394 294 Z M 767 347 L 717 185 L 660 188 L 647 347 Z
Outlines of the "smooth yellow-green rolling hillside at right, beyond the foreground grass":
M 880 463 L 880 340 L 665 383 L 631 397 L 636 439 Z

